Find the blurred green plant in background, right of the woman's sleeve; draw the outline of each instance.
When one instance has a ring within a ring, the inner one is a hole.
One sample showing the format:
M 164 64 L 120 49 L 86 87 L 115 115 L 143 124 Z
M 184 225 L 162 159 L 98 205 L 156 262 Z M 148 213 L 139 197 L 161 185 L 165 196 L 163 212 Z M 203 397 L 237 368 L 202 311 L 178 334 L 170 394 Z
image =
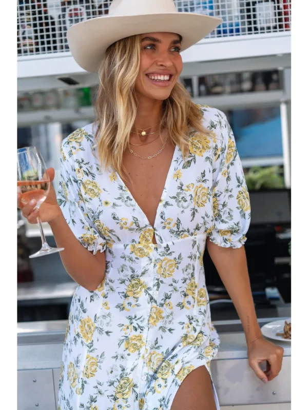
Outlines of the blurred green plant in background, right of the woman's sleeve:
M 252 167 L 245 174 L 245 179 L 248 191 L 284 188 L 283 170 L 279 166 Z

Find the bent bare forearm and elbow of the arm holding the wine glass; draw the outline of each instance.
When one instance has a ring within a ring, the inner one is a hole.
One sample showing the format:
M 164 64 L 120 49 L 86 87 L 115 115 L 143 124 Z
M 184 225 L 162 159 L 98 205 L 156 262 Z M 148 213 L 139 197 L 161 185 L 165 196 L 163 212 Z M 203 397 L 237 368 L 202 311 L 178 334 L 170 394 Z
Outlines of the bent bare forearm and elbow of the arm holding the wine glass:
M 62 212 L 49 222 L 57 247 L 64 248 L 60 256 L 67 273 L 89 291 L 97 288 L 105 276 L 105 252 L 93 255 L 72 233 Z

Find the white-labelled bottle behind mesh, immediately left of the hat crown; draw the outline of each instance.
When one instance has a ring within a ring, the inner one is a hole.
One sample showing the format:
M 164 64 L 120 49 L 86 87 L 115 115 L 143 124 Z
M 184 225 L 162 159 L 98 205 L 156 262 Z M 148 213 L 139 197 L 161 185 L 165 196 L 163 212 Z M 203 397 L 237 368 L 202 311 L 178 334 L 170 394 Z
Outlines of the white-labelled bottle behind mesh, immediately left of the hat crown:
M 63 50 L 69 50 L 66 32 L 74 24 L 84 22 L 97 15 L 93 0 L 62 0 L 61 1 L 61 43 Z

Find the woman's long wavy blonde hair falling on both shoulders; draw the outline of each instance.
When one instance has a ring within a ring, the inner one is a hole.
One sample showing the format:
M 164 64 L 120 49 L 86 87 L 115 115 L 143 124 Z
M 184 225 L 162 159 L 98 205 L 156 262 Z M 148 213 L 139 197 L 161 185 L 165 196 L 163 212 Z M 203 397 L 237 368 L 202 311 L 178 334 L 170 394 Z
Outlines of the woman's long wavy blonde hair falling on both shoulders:
M 99 69 L 100 84 L 95 100 L 97 131 L 95 145 L 105 169 L 112 167 L 123 180 L 131 178 L 122 158 L 136 119 L 138 100 L 134 84 L 139 73 L 141 36 L 133 35 L 113 43 L 106 51 Z M 192 103 L 189 93 L 177 81 L 169 98 L 163 101 L 161 127 L 177 144 L 182 156 L 189 154 L 191 132 L 208 134 L 202 125 L 200 106 Z M 131 181 L 132 182 L 132 181 Z

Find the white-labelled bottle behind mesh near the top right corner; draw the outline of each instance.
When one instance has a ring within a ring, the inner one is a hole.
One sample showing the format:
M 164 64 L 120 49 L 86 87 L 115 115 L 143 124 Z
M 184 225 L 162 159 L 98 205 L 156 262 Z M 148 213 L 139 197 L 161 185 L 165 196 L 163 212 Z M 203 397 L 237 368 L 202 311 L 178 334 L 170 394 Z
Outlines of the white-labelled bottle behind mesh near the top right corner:
M 245 3 L 248 33 L 278 31 L 281 14 L 280 0 L 249 0 Z

